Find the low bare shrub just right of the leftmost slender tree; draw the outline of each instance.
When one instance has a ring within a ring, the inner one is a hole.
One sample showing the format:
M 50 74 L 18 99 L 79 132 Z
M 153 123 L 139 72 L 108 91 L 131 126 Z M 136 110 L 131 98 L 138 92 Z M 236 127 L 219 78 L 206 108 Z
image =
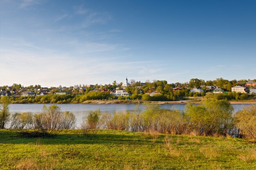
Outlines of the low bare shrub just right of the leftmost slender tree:
M 11 116 L 11 129 L 29 129 L 33 127 L 33 115 L 29 112 L 15 113 Z

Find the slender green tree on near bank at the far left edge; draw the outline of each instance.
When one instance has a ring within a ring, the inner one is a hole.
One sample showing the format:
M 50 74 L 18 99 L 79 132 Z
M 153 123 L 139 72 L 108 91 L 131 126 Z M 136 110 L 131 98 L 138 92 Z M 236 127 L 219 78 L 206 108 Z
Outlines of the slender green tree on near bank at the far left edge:
M 10 112 L 9 112 L 9 97 L 1 97 L 1 108 L 0 108 L 0 128 L 5 128 L 7 122 L 9 121 Z

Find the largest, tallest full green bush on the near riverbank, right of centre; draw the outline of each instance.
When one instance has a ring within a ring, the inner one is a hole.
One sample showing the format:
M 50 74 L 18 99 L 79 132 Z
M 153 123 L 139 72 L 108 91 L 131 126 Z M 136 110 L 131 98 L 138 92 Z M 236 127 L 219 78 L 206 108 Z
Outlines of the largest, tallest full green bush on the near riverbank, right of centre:
M 205 99 L 198 106 L 186 105 L 185 115 L 191 130 L 198 135 L 234 135 L 233 110 L 227 99 Z

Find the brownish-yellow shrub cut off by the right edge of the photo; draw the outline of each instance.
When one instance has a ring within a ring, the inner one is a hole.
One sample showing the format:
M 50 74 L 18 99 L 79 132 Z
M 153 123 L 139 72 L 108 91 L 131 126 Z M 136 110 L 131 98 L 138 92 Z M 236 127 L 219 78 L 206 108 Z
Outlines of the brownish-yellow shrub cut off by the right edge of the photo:
M 235 125 L 241 130 L 243 137 L 256 139 L 256 105 L 244 107 L 235 115 Z

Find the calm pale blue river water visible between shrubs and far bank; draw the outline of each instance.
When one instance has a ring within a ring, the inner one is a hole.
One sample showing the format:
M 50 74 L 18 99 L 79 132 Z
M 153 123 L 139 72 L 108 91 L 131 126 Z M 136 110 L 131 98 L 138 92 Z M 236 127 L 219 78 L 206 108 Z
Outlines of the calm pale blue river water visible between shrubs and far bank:
M 52 104 L 45 104 L 50 106 Z M 115 112 L 133 112 L 136 109 L 143 110 L 144 105 L 137 106 L 136 104 L 55 104 L 61 108 L 62 111 L 70 111 L 76 116 L 76 124 L 79 126 L 82 123 L 82 118 L 85 117 L 91 110 L 100 109 L 102 113 Z M 245 106 L 252 104 L 232 104 L 234 112 L 242 110 Z M 185 104 L 162 104 L 162 108 L 175 108 L 184 110 Z M 10 104 L 9 110 L 11 113 L 31 112 L 39 113 L 43 108 L 43 104 Z

